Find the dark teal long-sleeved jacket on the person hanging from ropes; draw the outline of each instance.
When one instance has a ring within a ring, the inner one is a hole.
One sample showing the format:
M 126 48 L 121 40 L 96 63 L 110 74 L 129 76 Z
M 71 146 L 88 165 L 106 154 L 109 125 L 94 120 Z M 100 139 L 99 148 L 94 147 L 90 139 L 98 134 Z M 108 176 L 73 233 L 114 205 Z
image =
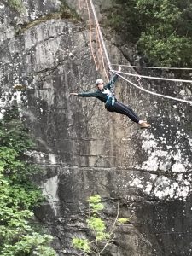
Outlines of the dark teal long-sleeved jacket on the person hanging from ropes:
M 110 93 L 107 93 L 107 92 L 109 92 L 107 90 L 111 90 L 113 88 L 113 84 L 116 82 L 117 79 L 118 79 L 118 75 L 115 74 L 113 76 L 113 78 L 108 82 L 108 84 L 106 84 L 103 87 L 102 90 L 96 90 L 93 92 L 81 92 L 77 96 L 79 96 L 79 97 L 96 97 L 100 101 L 106 103 L 108 100 L 108 96 L 110 95 Z

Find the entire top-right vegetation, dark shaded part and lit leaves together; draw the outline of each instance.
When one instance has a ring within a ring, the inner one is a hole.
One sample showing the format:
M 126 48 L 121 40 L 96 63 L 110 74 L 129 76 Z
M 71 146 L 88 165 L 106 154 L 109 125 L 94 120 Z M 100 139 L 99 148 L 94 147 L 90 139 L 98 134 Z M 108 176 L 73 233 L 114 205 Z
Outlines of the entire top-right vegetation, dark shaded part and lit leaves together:
M 111 26 L 137 43 L 149 63 L 192 67 L 192 3 L 183 0 L 113 0 Z

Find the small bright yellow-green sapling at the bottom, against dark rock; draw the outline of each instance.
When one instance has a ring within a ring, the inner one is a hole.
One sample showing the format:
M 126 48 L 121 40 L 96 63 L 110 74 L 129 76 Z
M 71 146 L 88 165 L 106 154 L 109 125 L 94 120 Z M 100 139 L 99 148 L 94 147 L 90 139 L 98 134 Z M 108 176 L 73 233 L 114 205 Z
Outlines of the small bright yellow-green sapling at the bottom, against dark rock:
M 110 231 L 107 231 L 107 223 L 101 217 L 104 209 L 100 195 L 91 195 L 87 200 L 89 203 L 89 218 L 86 219 L 87 227 L 90 230 L 92 239 L 73 237 L 72 245 L 80 251 L 80 255 L 102 255 L 106 248 L 113 242 L 114 231 L 118 224 L 125 224 L 128 218 L 118 218 L 113 222 Z M 91 254 L 90 254 L 91 253 Z

